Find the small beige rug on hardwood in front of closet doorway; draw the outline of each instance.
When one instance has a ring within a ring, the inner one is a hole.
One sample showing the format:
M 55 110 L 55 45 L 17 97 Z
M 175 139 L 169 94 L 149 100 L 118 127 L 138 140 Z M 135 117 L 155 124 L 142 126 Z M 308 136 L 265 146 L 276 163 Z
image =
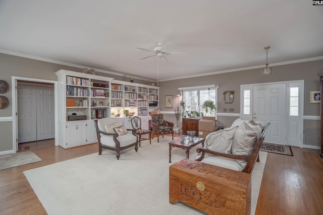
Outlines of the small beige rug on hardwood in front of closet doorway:
M 0 170 L 31 164 L 38 161 L 42 160 L 32 151 L 2 155 L 0 156 Z

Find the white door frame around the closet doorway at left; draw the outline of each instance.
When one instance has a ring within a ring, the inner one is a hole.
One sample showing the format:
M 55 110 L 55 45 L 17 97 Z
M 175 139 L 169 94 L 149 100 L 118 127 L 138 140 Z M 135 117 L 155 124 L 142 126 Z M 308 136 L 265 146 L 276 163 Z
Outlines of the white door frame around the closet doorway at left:
M 11 83 L 13 86 L 11 89 L 12 93 L 12 115 L 13 115 L 13 123 L 12 123 L 12 133 L 13 133 L 13 153 L 17 153 L 17 145 L 18 145 L 18 116 L 17 116 L 17 81 L 29 81 L 29 82 L 40 82 L 40 83 L 48 83 L 54 85 L 54 102 L 55 102 L 55 146 L 59 146 L 59 124 L 58 124 L 58 81 L 50 81 L 44 79 L 32 79 L 32 78 L 25 78 L 25 77 L 11 77 Z

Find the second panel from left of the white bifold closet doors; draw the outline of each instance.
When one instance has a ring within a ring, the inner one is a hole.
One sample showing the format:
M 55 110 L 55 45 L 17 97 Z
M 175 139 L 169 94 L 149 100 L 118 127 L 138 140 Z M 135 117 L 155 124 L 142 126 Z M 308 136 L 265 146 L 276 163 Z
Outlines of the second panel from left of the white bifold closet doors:
M 37 140 L 36 88 L 25 86 L 25 130 L 26 142 Z

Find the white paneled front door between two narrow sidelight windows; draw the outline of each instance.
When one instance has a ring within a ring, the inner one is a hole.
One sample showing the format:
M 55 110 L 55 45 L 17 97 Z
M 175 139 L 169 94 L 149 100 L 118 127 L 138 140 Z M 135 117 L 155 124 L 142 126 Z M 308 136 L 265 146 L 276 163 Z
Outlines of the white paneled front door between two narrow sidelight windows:
M 271 123 L 265 142 L 286 145 L 286 84 L 253 86 L 253 120 Z

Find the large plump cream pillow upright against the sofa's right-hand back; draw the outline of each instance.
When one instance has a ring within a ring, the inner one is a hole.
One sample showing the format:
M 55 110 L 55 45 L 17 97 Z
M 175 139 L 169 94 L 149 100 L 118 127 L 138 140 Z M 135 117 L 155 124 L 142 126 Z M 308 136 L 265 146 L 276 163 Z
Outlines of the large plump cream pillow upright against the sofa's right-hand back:
M 233 155 L 251 155 L 256 141 L 256 132 L 244 122 L 239 125 L 233 136 L 231 152 Z M 242 168 L 246 165 L 246 161 L 237 159 L 236 161 Z

